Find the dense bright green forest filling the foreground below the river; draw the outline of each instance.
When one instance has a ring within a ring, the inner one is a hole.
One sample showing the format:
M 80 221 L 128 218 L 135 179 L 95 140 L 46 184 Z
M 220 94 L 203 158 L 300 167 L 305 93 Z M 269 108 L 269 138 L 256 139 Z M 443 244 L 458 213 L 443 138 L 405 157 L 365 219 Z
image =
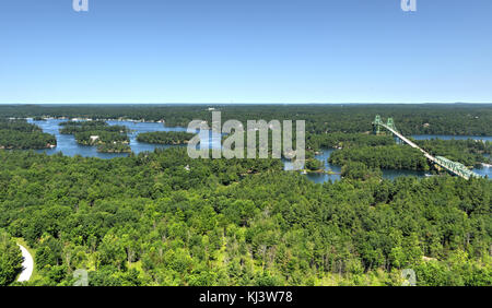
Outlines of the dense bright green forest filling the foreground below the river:
M 319 185 L 280 159 L 180 147 L 0 161 L 0 228 L 35 251 L 24 284 L 86 269 L 91 285 L 401 285 L 408 268 L 418 285 L 492 284 L 487 179 L 390 181 L 351 162 Z

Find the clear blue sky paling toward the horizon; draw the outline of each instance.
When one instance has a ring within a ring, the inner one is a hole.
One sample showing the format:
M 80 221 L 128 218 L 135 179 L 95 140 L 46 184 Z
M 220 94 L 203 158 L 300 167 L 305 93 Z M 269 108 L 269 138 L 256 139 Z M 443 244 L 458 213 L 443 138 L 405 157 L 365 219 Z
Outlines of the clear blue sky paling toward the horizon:
M 492 1 L 1 0 L 0 103 L 492 102 Z

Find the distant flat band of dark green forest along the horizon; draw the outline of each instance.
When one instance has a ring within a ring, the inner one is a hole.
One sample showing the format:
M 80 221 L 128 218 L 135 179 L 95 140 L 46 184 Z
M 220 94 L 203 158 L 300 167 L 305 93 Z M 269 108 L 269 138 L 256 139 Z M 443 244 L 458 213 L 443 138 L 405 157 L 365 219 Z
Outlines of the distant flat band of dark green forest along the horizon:
M 165 121 L 187 127 L 194 119 L 211 122 L 211 110 L 222 121 L 306 120 L 312 133 L 368 132 L 375 115 L 393 117 L 403 134 L 492 135 L 490 104 L 326 104 L 326 105 L 4 105 L 3 117 L 56 117 Z M 410 115 L 410 116 L 409 116 Z

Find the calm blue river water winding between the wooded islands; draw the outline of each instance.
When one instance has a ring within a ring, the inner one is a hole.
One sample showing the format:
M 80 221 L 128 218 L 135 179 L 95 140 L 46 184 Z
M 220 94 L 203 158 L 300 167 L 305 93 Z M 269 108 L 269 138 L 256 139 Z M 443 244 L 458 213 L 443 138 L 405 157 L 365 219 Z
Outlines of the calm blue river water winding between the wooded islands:
M 28 122 L 35 123 L 39 126 L 43 131 L 47 133 L 51 133 L 57 138 L 57 147 L 48 149 L 48 150 L 37 150 L 37 152 L 46 152 L 47 154 L 51 155 L 58 152 L 62 152 L 65 155 L 68 156 L 74 156 L 77 154 L 81 156 L 86 157 L 99 157 L 99 158 L 113 158 L 113 157 L 121 157 L 121 156 L 128 156 L 127 153 L 98 153 L 96 146 L 85 146 L 80 145 L 77 143 L 75 138 L 71 134 L 60 134 L 59 129 L 60 122 L 63 122 L 66 120 L 57 120 L 57 119 L 49 119 L 46 121 L 33 121 L 32 119 L 28 119 Z M 154 151 L 154 149 L 166 149 L 171 146 L 176 145 L 164 145 L 164 144 L 149 144 L 143 142 L 137 141 L 137 135 L 141 132 L 151 132 L 151 131 L 186 131 L 186 128 L 169 128 L 165 127 L 164 123 L 157 123 L 157 122 L 132 122 L 132 121 L 107 121 L 110 126 L 126 126 L 128 129 L 130 129 L 130 132 L 128 133 L 128 137 L 130 138 L 130 147 L 131 151 L 136 154 L 144 151 Z M 412 135 L 417 140 L 423 140 L 423 139 L 473 139 L 473 140 L 488 140 L 492 141 L 492 137 L 472 137 L 472 135 Z M 209 138 L 209 146 L 219 149 L 220 147 L 221 138 Z M 340 166 L 333 166 L 328 163 L 328 157 L 330 156 L 331 152 L 335 150 L 332 149 L 324 149 L 323 153 L 319 155 L 316 155 L 315 157 L 319 161 L 321 161 L 325 164 L 326 170 L 332 170 L 335 173 L 340 173 L 341 167 Z M 292 170 L 292 163 L 289 161 L 284 161 L 284 169 L 285 170 Z M 492 177 L 492 168 L 484 167 L 481 169 L 473 169 L 475 173 L 485 176 L 488 175 L 490 178 Z M 383 177 L 388 179 L 394 179 L 399 176 L 419 176 L 423 177 L 425 175 L 424 171 L 412 171 L 412 170 L 393 170 L 393 169 L 383 169 Z M 340 175 L 327 175 L 327 174 L 307 174 L 306 177 L 314 181 L 314 182 L 325 182 L 328 180 L 339 180 Z

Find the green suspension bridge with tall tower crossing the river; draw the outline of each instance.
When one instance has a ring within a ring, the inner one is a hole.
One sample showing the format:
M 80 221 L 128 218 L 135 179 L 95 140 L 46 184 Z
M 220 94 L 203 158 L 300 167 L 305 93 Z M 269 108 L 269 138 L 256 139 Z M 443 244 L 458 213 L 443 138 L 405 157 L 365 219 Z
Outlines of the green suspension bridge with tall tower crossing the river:
M 447 170 L 448 173 L 450 173 L 450 174 L 453 174 L 455 176 L 458 176 L 458 177 L 461 177 L 461 178 L 465 178 L 465 179 L 469 179 L 471 177 L 480 177 L 479 175 L 477 175 L 476 173 L 469 170 L 465 165 L 462 165 L 460 163 L 453 162 L 453 161 L 447 159 L 446 157 L 443 157 L 443 156 L 432 156 L 426 151 L 424 151 L 419 145 L 417 145 L 414 142 L 412 142 L 411 140 L 409 140 L 408 138 L 406 138 L 405 135 L 399 133 L 397 131 L 397 129 L 396 129 L 395 121 L 393 120 L 393 118 L 388 118 L 387 122 L 385 123 L 385 122 L 383 122 L 380 116 L 377 115 L 376 118 L 373 121 L 373 132 L 375 134 L 380 134 L 382 133 L 382 129 L 388 130 L 394 135 L 396 135 L 399 140 L 401 140 L 402 142 L 407 143 L 411 147 L 418 149 L 420 152 L 422 152 L 422 154 L 431 163 L 440 166 L 441 168 Z

